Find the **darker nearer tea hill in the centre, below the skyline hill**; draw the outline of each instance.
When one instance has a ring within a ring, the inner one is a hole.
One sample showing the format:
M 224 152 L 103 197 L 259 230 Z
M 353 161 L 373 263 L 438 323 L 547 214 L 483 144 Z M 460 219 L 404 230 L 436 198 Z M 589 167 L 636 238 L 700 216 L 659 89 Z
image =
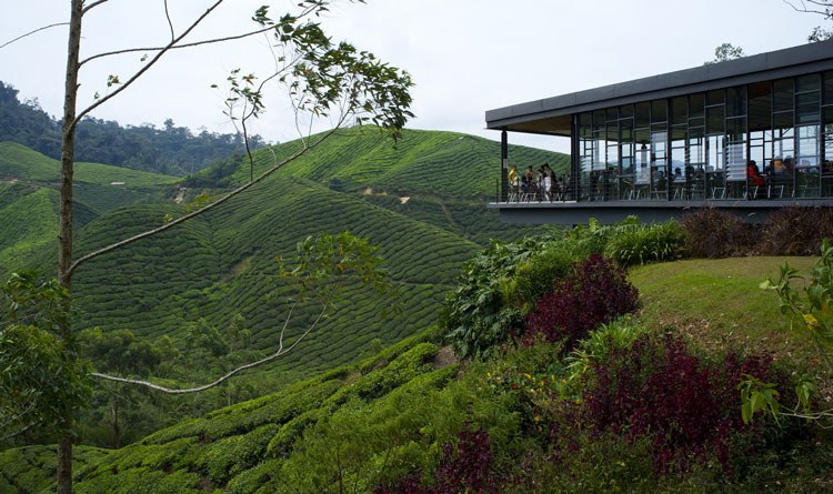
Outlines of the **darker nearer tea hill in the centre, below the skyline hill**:
M 142 206 L 100 218 L 80 232 L 78 252 L 158 224 L 167 211 Z M 351 194 L 303 179 L 275 178 L 217 213 L 79 270 L 73 283 L 82 310 L 79 327 L 129 329 L 148 337 L 182 335 L 199 317 L 222 325 L 239 312 L 255 346 L 273 347 L 287 309 L 264 296 L 275 273 L 274 256 L 290 256 L 307 235 L 343 230 L 380 248 L 402 293 L 404 316 L 385 321 L 369 293 L 349 289 L 342 309 L 303 351 L 279 363 L 281 369 L 303 365 L 318 372 L 350 362 L 372 339 L 390 344 L 412 334 L 433 317 L 458 266 L 479 249 Z M 300 331 L 313 315 L 313 308 L 307 308 L 290 327 Z

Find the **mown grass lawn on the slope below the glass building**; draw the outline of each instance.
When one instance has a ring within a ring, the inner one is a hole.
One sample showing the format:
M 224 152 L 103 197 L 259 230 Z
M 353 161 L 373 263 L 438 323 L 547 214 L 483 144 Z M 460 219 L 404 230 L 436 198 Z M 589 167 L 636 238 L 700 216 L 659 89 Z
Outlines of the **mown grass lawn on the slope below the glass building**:
M 790 331 L 774 292 L 759 288 L 785 262 L 802 273 L 816 258 L 684 260 L 631 270 L 643 309 L 639 320 L 662 331 L 674 327 L 705 351 L 772 352 L 803 366 L 819 355 L 809 336 Z

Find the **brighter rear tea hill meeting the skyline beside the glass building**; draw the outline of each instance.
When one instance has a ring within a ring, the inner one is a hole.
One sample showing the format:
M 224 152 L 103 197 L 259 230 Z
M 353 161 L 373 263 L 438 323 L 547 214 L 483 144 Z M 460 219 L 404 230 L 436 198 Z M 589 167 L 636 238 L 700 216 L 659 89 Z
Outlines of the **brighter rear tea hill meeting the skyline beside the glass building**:
M 261 150 L 254 174 L 300 149 L 300 141 Z M 519 169 L 549 162 L 556 173 L 566 170 L 570 157 L 510 145 L 510 163 Z M 194 175 L 211 184 L 214 170 Z M 334 191 L 361 194 L 375 205 L 441 228 L 488 246 L 490 239 L 514 240 L 540 233 L 541 226 L 500 223 L 498 212 L 484 204 L 494 200 L 500 177 L 500 143 L 456 132 L 405 130 L 395 147 L 375 128 L 339 131 L 324 144 L 278 172 L 313 180 Z M 244 163 L 228 177 L 229 184 L 249 178 Z M 543 228 L 543 230 L 546 230 Z

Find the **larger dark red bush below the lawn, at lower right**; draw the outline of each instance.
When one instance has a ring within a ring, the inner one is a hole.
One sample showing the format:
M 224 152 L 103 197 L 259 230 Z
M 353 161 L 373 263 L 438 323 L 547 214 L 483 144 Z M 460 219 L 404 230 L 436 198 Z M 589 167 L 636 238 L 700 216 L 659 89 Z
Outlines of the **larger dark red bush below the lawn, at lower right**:
M 733 441 L 763 423 L 743 423 L 737 384 L 743 374 L 783 381 L 770 363 L 765 356 L 729 354 L 710 366 L 680 340 L 665 336 L 658 344 L 643 337 L 594 364 L 575 412 L 596 431 L 611 427 L 633 440 L 650 435 L 659 470 L 682 468 L 688 458 L 711 454 L 731 473 L 733 455 L 744 453 Z

